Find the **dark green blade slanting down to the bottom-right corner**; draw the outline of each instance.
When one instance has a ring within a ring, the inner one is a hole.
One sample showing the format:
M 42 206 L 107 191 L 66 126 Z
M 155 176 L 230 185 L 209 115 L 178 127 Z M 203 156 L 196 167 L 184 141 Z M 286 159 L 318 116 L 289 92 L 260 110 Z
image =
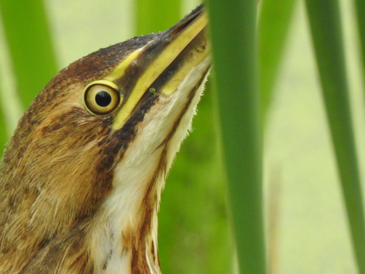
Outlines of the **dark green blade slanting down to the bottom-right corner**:
M 365 222 L 339 4 L 337 0 L 306 0 L 306 6 L 352 244 L 358 270 L 365 273 Z

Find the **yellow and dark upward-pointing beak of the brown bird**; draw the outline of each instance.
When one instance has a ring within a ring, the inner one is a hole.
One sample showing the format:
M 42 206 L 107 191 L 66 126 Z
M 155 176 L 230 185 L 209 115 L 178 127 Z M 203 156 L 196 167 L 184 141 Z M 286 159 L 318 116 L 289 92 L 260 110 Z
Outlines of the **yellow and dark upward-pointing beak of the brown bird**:
M 196 8 L 172 28 L 129 54 L 104 77 L 103 80 L 115 84 L 122 98 L 112 130 L 123 127 L 144 94 L 173 94 L 191 69 L 209 54 L 207 23 L 205 9 Z

